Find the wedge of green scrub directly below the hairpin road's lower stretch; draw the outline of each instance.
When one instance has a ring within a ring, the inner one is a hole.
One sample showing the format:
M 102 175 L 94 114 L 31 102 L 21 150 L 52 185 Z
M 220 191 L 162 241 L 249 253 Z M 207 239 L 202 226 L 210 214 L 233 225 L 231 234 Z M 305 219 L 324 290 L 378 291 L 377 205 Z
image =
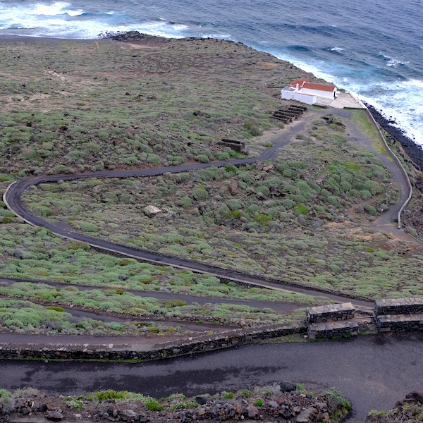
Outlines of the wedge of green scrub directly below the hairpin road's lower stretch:
M 89 245 L 71 243 L 46 229 L 22 223 L 0 226 L 0 252 L 1 275 L 8 277 L 217 298 L 303 304 L 325 301 L 283 291 L 244 288 L 235 283 L 221 283 L 214 276 L 102 254 Z

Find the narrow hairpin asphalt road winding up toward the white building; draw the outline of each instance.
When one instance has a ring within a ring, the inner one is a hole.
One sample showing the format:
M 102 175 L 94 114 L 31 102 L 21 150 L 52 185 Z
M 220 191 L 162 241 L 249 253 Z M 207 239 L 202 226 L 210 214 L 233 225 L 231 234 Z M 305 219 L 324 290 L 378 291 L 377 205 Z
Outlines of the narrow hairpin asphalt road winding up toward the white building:
M 21 197 L 25 190 L 30 188 L 33 185 L 38 185 L 40 183 L 53 183 L 59 180 L 79 180 L 87 178 L 128 178 L 133 176 L 157 176 L 162 175 L 163 173 L 180 173 L 191 171 L 195 169 L 209 168 L 209 167 L 219 167 L 231 165 L 242 165 L 255 163 L 257 161 L 263 161 L 271 159 L 271 157 L 277 152 L 278 149 L 288 145 L 292 142 L 296 133 L 300 133 L 305 130 L 307 123 L 312 119 L 316 118 L 319 115 L 317 111 L 307 112 L 307 118 L 302 118 L 301 121 L 295 121 L 291 124 L 289 130 L 284 131 L 283 135 L 276 140 L 274 146 L 266 149 L 258 157 L 250 157 L 248 159 L 232 159 L 228 161 L 214 161 L 211 163 L 195 163 L 188 165 L 180 166 L 168 166 L 166 168 L 149 168 L 149 169 L 140 169 L 140 170 L 129 170 L 129 171 L 101 171 L 101 172 L 87 172 L 87 173 L 72 173 L 65 175 L 54 175 L 54 176 L 35 176 L 28 177 L 19 180 L 17 183 L 13 183 L 9 186 L 8 190 L 4 194 L 4 201 L 6 202 L 8 208 L 15 213 L 17 216 L 22 218 L 27 223 L 30 223 L 35 226 L 42 226 L 49 229 L 51 232 L 61 235 L 64 238 L 69 238 L 71 240 L 78 240 L 82 243 L 87 243 L 93 247 L 97 247 L 101 250 L 106 250 L 109 252 L 118 253 L 125 255 L 126 257 L 133 257 L 135 259 L 141 259 L 147 262 L 153 262 L 157 264 L 170 265 L 180 269 L 189 269 L 191 271 L 197 271 L 204 274 L 211 274 L 218 278 L 223 278 L 228 281 L 235 281 L 239 283 L 245 283 L 247 285 L 259 286 L 262 288 L 269 288 L 274 290 L 290 290 L 297 293 L 304 293 L 307 295 L 323 295 L 335 302 L 346 302 L 351 301 L 351 298 L 345 295 L 335 295 L 333 293 L 326 292 L 324 290 L 314 289 L 314 288 L 303 288 L 296 286 L 292 283 L 276 282 L 266 280 L 265 278 L 259 278 L 256 276 L 251 276 L 247 274 L 241 274 L 238 271 L 233 271 L 230 269 L 221 269 L 210 264 L 203 264 L 199 262 L 190 261 L 187 259 L 180 259 L 177 257 L 161 255 L 156 252 L 149 252 L 146 250 L 139 250 L 134 247 L 128 247 L 126 245 L 119 245 L 115 243 L 110 243 L 106 240 L 99 240 L 97 238 L 90 238 L 87 235 L 81 233 L 75 233 L 67 231 L 66 229 L 59 228 L 54 225 L 54 223 L 49 223 L 35 214 L 29 212 L 23 202 Z M 363 307 L 369 307 L 372 305 L 369 301 L 363 300 L 353 300 L 356 305 Z

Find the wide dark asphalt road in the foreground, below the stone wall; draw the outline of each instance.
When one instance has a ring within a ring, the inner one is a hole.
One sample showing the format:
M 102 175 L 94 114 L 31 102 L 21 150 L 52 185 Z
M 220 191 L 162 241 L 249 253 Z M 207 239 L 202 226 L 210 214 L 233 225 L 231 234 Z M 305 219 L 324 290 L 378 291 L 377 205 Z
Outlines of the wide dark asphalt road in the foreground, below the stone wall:
M 393 407 L 422 390 L 423 333 L 362 336 L 348 341 L 245 345 L 190 357 L 139 364 L 0 361 L 1 387 L 36 386 L 76 395 L 101 389 L 160 398 L 181 392 L 237 391 L 293 381 L 341 389 L 353 403 L 348 423 L 363 423 L 369 410 Z

